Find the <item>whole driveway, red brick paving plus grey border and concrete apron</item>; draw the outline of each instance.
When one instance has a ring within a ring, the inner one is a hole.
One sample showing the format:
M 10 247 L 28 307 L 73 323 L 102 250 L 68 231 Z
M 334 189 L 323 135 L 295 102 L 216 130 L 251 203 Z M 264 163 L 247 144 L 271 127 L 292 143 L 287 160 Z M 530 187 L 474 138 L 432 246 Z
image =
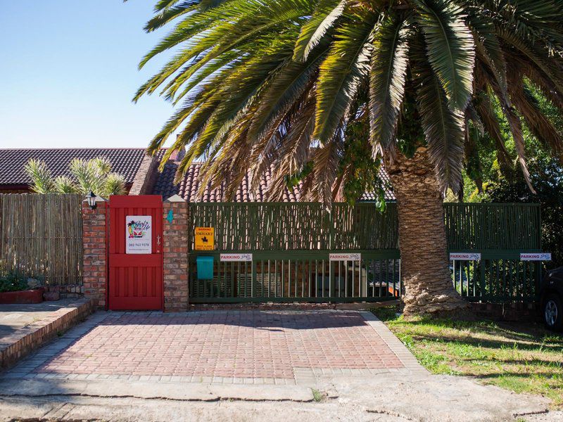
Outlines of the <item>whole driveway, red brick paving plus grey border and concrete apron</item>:
M 430 375 L 369 312 L 96 312 L 0 373 L 0 422 L 536 421 L 548 404 Z

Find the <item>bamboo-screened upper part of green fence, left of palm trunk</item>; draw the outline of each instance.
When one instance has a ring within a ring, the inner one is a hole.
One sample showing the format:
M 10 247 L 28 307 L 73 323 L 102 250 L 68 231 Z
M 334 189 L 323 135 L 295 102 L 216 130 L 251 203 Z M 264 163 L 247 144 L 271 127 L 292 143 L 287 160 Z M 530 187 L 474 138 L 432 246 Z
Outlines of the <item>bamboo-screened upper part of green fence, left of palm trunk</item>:
M 215 227 L 215 250 L 381 250 L 398 248 L 397 207 L 373 203 L 191 203 L 190 236 Z M 194 240 L 189 240 L 194 248 Z

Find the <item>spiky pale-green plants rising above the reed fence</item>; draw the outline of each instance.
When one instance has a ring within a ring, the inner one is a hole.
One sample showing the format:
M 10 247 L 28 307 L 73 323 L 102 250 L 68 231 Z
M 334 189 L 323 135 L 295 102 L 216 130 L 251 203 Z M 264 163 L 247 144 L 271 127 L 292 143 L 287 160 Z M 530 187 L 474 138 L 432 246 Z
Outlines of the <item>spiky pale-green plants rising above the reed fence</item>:
M 32 180 L 32 191 L 36 193 L 82 193 L 94 192 L 101 196 L 125 193 L 125 179 L 121 174 L 111 172 L 107 158 L 92 160 L 75 158 L 70 162 L 70 177 L 52 176 L 46 163 L 31 159 L 25 165 L 25 172 Z

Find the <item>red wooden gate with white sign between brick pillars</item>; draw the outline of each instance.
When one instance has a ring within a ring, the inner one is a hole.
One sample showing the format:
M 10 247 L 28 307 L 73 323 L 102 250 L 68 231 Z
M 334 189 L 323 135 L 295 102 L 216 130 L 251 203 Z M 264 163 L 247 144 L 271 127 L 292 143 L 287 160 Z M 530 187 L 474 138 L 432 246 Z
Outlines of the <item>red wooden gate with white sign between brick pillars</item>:
M 162 196 L 110 196 L 109 228 L 109 309 L 163 309 Z

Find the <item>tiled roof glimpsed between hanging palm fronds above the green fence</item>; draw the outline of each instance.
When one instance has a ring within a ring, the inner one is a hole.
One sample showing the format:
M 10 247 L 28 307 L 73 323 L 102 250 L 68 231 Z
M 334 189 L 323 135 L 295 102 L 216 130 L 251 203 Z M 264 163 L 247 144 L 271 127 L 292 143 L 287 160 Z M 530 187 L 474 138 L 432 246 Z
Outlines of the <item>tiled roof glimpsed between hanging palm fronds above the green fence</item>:
M 170 198 L 170 196 L 178 194 L 182 196 L 188 202 L 196 202 L 196 197 L 198 189 L 200 187 L 199 171 L 201 169 L 201 163 L 192 164 L 186 174 L 184 179 L 175 185 L 174 176 L 178 167 L 178 162 L 168 161 L 165 164 L 164 170 L 158 175 L 158 180 L 153 187 L 153 195 L 162 195 L 163 198 Z M 388 181 L 388 176 L 383 172 L 382 176 Z M 265 198 L 265 192 L 271 181 L 271 172 L 267 171 L 262 176 L 260 180 L 260 186 L 258 191 L 252 191 L 250 186 L 249 177 L 246 176 L 241 186 L 239 186 L 236 191 L 236 195 L 233 202 L 263 202 Z M 391 186 L 391 183 L 389 183 Z M 300 197 L 300 187 L 295 186 L 291 191 L 285 189 L 283 201 L 284 202 L 297 202 Z M 365 193 L 360 200 L 374 200 L 375 197 L 373 193 Z M 386 191 L 386 199 L 394 200 L 395 196 L 393 191 Z M 220 186 L 215 189 L 211 189 L 209 186 L 205 188 L 201 202 L 224 202 L 224 188 Z

